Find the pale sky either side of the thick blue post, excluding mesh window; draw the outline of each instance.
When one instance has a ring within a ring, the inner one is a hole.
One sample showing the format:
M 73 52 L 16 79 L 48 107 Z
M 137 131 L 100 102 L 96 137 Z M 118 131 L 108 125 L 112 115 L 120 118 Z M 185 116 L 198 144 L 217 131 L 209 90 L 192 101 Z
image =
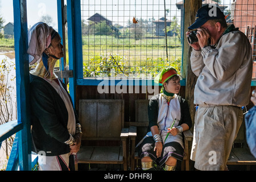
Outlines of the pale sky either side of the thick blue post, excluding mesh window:
M 0 0 L 0 15 L 5 19 L 6 25 L 14 22 L 13 0 Z M 39 22 L 42 15 L 52 17 L 51 26 L 57 29 L 57 1 L 56 0 L 27 0 L 27 24 L 28 28 Z

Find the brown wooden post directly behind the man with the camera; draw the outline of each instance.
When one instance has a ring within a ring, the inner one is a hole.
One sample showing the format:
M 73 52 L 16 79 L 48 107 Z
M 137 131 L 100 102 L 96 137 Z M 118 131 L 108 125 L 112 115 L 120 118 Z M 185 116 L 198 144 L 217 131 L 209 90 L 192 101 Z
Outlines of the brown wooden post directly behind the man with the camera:
M 185 32 L 188 31 L 188 27 L 195 22 L 196 12 L 202 6 L 201 0 L 186 0 L 184 1 L 184 48 L 183 48 L 183 72 L 186 74 L 186 88 L 185 98 L 189 104 L 189 111 L 191 113 L 192 123 L 195 120 L 195 105 L 194 101 L 194 89 L 197 81 L 197 76 L 191 70 L 190 55 L 192 47 L 188 45 Z

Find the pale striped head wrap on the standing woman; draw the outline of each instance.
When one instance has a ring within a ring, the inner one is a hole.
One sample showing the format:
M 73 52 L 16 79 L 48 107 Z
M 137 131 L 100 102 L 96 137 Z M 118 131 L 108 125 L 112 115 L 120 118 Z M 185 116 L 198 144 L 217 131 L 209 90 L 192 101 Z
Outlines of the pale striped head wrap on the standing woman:
M 50 46 L 57 32 L 46 23 L 38 22 L 28 31 L 28 59 L 29 64 L 35 64 L 42 59 L 44 67 L 48 70 L 48 55 L 44 50 Z

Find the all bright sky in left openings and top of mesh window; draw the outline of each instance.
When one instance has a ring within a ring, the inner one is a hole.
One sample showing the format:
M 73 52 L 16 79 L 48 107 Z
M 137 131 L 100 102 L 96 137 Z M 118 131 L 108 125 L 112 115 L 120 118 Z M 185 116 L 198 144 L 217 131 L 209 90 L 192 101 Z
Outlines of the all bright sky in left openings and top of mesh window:
M 172 5 L 167 5 L 167 9 L 170 9 L 169 15 L 180 16 L 180 11 L 176 11 L 175 5 L 180 1 L 181 0 L 171 0 Z M 147 5 L 145 5 L 144 2 L 147 2 Z M 148 19 L 150 17 L 152 18 L 152 16 L 154 16 L 155 19 L 159 19 L 164 16 L 163 0 L 81 0 L 81 3 L 85 4 L 81 6 L 82 19 L 86 20 L 93 14 L 100 13 L 109 20 L 112 20 L 113 24 L 118 23 L 123 26 L 127 24 L 129 20 L 132 20 L 133 16 L 138 17 L 138 19 Z M 127 3 L 129 3 L 129 5 Z M 159 6 L 158 3 L 162 5 Z M 0 15 L 5 19 L 4 25 L 9 22 L 14 22 L 13 0 L 0 0 Z M 53 19 L 51 26 L 57 29 L 56 0 L 27 0 L 28 28 L 39 22 L 42 15 L 50 15 Z M 167 19 L 171 19 L 171 17 Z

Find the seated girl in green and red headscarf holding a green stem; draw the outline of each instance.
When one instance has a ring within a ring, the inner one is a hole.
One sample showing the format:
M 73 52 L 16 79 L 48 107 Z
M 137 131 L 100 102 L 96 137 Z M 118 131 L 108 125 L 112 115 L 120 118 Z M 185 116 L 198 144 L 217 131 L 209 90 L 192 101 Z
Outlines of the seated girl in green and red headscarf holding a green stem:
M 164 68 L 155 82 L 163 86 L 148 104 L 148 132 L 137 147 L 143 170 L 173 171 L 183 160 L 182 132 L 191 128 L 191 115 L 187 101 L 177 95 L 180 76 L 173 67 Z

